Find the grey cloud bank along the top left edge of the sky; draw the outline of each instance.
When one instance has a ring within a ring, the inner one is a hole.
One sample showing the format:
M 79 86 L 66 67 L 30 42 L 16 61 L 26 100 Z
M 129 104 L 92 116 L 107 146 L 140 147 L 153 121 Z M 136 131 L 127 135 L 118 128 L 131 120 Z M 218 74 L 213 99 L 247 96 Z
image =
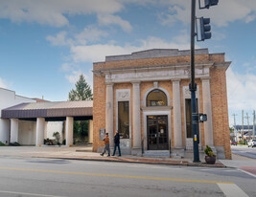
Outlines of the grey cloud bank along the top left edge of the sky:
M 41 25 L 63 27 L 69 25 L 67 15 L 96 14 L 106 16 L 107 24 L 121 25 L 128 31 L 128 21 L 112 14 L 122 11 L 123 5 L 118 0 L 2 0 L 0 18 L 12 22 L 35 22 Z M 103 19 L 102 19 L 103 21 Z

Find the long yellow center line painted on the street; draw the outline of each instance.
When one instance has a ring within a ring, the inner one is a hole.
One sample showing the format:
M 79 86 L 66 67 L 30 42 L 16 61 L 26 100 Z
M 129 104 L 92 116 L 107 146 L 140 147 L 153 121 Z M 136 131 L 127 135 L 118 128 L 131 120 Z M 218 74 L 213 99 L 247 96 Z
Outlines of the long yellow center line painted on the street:
M 98 177 L 145 179 L 145 180 L 171 181 L 171 182 L 189 182 L 189 183 L 204 183 L 204 184 L 234 184 L 233 182 L 221 182 L 221 181 L 171 179 L 171 178 L 162 178 L 162 177 L 128 176 L 128 175 L 117 175 L 117 174 L 98 174 L 98 173 L 47 170 L 47 169 L 26 169 L 26 168 L 14 168 L 14 167 L 0 167 L 0 169 L 15 170 L 15 171 L 47 172 L 47 173 L 56 173 L 56 174 L 75 174 L 75 175 L 98 176 Z

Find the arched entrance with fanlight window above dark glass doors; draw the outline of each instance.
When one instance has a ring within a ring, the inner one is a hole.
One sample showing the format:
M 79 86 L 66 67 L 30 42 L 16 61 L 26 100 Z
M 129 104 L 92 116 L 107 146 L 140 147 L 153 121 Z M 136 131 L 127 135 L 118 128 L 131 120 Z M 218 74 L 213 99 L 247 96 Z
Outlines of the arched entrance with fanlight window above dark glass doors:
M 168 92 L 161 87 L 154 87 L 146 92 L 144 98 L 144 148 L 168 150 L 171 140 L 171 106 Z

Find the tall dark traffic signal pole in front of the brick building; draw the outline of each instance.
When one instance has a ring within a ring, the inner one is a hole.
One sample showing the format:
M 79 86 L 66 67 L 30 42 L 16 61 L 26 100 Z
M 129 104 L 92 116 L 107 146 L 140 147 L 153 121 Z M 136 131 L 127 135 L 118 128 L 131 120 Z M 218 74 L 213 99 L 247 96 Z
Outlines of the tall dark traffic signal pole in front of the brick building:
M 193 147 L 194 147 L 194 163 L 199 163 L 198 151 L 198 114 L 196 103 L 197 84 L 195 82 L 195 24 L 196 24 L 196 0 L 191 0 L 191 107 L 192 107 L 192 130 L 193 130 Z

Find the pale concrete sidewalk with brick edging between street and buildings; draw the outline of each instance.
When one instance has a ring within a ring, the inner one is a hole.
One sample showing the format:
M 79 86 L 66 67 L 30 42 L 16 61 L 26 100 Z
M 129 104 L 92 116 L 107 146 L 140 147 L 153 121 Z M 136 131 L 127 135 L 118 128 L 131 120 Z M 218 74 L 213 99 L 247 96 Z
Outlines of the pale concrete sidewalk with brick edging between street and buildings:
M 122 157 L 104 157 L 99 153 L 92 152 L 91 145 L 84 146 L 0 146 L 0 157 L 25 157 L 25 158 L 48 158 L 65 159 L 81 161 L 101 161 L 101 162 L 119 162 L 134 164 L 170 164 L 187 166 L 207 166 L 207 167 L 225 167 L 224 164 L 217 161 L 216 164 L 205 164 L 201 158 L 201 163 L 193 163 L 190 159 L 175 158 L 145 158 L 131 155 L 122 155 Z

